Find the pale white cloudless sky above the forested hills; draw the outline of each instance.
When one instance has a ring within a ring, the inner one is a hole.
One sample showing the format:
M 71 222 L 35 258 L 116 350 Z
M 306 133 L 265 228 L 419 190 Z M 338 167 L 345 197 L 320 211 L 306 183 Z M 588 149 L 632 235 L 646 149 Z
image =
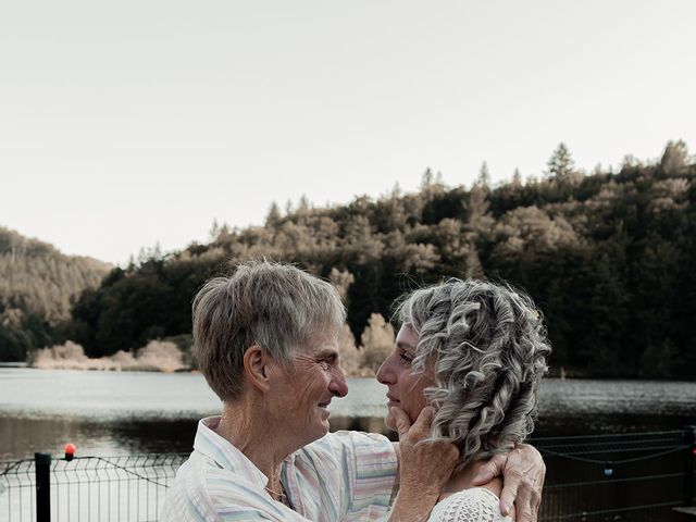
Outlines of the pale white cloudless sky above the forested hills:
M 0 225 L 125 262 L 378 196 L 696 149 L 696 1 L 7 0 Z

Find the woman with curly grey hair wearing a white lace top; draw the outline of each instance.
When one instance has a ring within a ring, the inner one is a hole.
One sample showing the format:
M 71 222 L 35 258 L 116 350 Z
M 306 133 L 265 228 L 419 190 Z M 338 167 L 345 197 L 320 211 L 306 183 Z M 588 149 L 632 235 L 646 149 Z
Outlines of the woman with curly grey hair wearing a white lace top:
M 498 498 L 501 481 L 482 486 L 473 477 L 534 428 L 551 351 L 542 313 L 507 284 L 452 278 L 402 296 L 395 316 L 401 323 L 396 347 L 377 372 L 389 406 L 401 409 L 389 413 L 387 425 L 432 407 L 430 439 L 460 451 L 430 521 L 509 520 Z M 535 496 L 534 509 L 539 500 Z

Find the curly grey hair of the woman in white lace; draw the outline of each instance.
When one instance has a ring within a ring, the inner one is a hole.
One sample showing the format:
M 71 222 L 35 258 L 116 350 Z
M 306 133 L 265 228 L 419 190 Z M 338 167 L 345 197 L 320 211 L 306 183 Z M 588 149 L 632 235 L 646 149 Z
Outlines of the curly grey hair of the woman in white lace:
M 452 278 L 406 295 L 396 314 L 418 336 L 413 370 L 434 368 L 432 436 L 459 446 L 458 470 L 532 433 L 551 347 L 526 294 Z

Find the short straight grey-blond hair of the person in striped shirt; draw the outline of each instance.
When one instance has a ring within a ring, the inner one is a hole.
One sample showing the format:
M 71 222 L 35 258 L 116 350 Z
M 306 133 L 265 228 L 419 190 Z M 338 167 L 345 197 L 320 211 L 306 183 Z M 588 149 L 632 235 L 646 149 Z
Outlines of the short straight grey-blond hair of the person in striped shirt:
M 244 353 L 258 344 L 287 363 L 316 334 L 339 332 L 346 310 L 336 289 L 290 264 L 254 260 L 210 279 L 194 299 L 194 350 L 209 386 L 241 397 Z

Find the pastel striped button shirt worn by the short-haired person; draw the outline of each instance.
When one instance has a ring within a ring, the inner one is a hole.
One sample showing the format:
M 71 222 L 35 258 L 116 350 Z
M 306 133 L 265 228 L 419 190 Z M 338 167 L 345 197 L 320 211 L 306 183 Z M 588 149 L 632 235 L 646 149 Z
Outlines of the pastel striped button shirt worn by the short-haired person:
M 198 423 L 194 451 L 176 473 L 161 520 L 337 522 L 387 514 L 397 461 L 386 437 L 330 433 L 290 455 L 281 475 L 289 509 L 264 490 L 266 476 L 213 431 L 219 422 Z

